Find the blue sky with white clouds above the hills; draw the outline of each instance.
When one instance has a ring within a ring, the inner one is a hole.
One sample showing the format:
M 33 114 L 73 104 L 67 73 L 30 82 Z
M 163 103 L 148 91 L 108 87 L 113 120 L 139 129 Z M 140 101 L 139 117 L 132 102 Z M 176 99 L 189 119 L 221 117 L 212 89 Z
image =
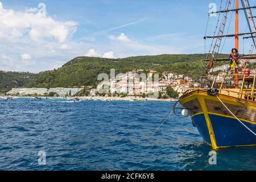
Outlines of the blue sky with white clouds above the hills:
M 0 70 L 38 73 L 77 56 L 208 52 L 211 42 L 203 37 L 213 1 L 0 0 Z M 215 2 L 218 9 L 220 1 Z M 240 16 L 244 32 L 246 24 Z M 231 13 L 229 17 L 234 19 Z M 209 18 L 207 35 L 213 35 L 217 19 Z M 232 22 L 225 31 L 233 30 Z M 226 39 L 222 52 L 229 53 L 233 42 Z M 249 40 L 244 44 L 241 40 L 240 52 L 250 45 Z

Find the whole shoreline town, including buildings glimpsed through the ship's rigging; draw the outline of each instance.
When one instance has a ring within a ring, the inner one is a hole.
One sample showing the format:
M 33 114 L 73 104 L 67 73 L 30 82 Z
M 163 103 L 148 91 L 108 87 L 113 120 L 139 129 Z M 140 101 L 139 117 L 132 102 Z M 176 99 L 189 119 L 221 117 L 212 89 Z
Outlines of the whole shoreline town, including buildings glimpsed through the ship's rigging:
M 221 81 L 226 72 L 219 70 L 216 81 Z M 251 72 L 256 72 L 252 69 Z M 145 76 L 143 78 L 143 75 Z M 156 77 L 157 75 L 157 77 Z M 13 88 L 7 92 L 7 96 L 20 97 L 112 97 L 112 98 L 148 98 L 157 94 L 158 99 L 178 98 L 184 92 L 200 88 L 199 82 L 187 75 L 164 71 L 158 73 L 154 70 L 134 69 L 124 74 L 119 74 L 108 81 L 102 81 L 93 86 L 81 86 L 74 88 Z M 169 93 L 168 93 L 169 92 Z M 170 92 L 175 94 L 170 94 Z M 80 93 L 80 94 L 79 94 Z M 82 93 L 82 94 L 81 94 Z

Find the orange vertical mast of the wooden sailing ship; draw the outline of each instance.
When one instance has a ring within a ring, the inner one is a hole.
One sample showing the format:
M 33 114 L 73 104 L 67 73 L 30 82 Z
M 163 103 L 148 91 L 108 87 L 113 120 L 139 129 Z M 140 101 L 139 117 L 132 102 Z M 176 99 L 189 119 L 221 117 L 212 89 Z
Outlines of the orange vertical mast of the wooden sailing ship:
M 236 0 L 236 9 L 239 9 L 239 0 Z M 237 51 L 239 50 L 239 14 L 238 10 L 236 11 L 236 49 Z M 238 78 L 238 68 L 235 68 L 235 88 L 239 88 L 239 78 Z

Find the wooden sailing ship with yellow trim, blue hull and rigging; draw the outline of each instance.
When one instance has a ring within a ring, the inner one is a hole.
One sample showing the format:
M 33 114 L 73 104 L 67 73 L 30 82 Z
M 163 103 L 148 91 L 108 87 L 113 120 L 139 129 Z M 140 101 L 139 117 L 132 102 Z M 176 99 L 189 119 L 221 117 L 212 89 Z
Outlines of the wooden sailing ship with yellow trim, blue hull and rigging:
M 233 1 L 228 0 L 226 9 L 216 13 L 224 13 L 222 24 L 218 35 L 208 36 L 216 40 L 211 49 L 211 55 L 207 57 L 208 68 L 206 73 L 213 68 L 214 61 L 226 61 L 217 59 L 218 51 L 221 45 L 221 39 L 224 37 L 234 37 L 235 47 L 239 50 L 239 36 L 250 35 L 255 46 L 256 27 L 254 24 L 255 16 L 252 15 L 248 0 L 234 0 L 236 9 L 230 9 Z M 240 7 L 240 2 L 243 7 Z M 236 12 L 236 30 L 233 35 L 224 35 L 224 28 L 228 13 Z M 238 24 L 238 14 L 244 11 L 250 32 L 240 33 Z M 254 31 L 251 28 L 251 24 Z M 256 55 L 241 56 L 240 61 L 254 60 Z M 246 71 L 246 72 L 245 72 Z M 202 77 L 202 81 L 207 82 L 207 86 L 200 89 L 193 89 L 180 97 L 179 103 L 189 115 L 192 123 L 199 130 L 203 137 L 214 150 L 233 146 L 256 146 L 256 88 L 255 73 L 252 75 L 249 69 L 243 69 L 239 72 L 236 68 L 234 74 L 224 74 L 222 78 L 214 76 L 213 73 Z M 174 106 L 174 109 L 177 106 Z

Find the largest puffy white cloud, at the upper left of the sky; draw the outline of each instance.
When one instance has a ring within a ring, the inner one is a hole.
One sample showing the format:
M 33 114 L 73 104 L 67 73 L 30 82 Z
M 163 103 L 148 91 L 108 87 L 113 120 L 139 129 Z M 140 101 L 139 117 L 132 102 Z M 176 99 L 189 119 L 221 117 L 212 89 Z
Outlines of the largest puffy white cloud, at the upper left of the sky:
M 25 11 L 6 10 L 0 2 L 0 39 L 28 35 L 34 41 L 49 38 L 65 42 L 76 31 L 76 26 L 74 21 L 60 22 L 36 13 L 36 8 Z

